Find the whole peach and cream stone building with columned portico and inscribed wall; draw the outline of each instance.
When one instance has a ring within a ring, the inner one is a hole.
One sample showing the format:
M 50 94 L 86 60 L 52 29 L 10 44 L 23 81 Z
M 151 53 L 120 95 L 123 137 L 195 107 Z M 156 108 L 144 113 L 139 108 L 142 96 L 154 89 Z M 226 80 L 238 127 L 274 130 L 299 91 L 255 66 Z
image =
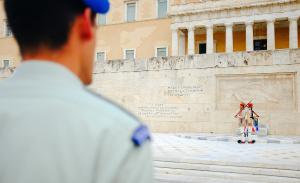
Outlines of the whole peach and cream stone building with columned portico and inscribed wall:
M 20 56 L 0 0 L 0 79 Z M 111 0 L 91 89 L 154 132 L 234 133 L 253 100 L 272 135 L 300 135 L 300 0 Z M 1 91 L 0 91 L 1 92 Z

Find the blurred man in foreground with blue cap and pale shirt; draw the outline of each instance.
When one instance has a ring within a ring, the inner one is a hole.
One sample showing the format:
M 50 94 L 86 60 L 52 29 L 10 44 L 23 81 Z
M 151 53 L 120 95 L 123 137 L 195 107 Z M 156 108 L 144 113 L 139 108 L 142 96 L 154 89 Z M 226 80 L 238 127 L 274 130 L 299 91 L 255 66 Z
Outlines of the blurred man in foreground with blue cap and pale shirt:
M 109 2 L 4 4 L 23 61 L 0 82 L 0 182 L 153 182 L 148 128 L 85 87 Z

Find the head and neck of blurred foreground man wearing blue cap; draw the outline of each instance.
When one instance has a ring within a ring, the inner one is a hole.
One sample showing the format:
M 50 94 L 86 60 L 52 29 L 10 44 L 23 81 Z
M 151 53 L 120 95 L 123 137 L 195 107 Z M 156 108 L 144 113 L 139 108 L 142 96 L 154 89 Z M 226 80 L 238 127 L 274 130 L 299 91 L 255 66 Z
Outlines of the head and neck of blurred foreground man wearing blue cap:
M 23 60 L 51 60 L 92 80 L 96 13 L 108 0 L 4 0 L 7 20 Z

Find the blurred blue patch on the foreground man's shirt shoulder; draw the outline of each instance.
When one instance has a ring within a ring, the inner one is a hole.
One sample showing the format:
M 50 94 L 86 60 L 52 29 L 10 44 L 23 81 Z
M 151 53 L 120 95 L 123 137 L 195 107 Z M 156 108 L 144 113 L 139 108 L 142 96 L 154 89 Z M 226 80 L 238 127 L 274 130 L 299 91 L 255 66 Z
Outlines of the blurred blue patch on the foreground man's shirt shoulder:
M 131 140 L 135 146 L 141 146 L 147 140 L 150 140 L 150 132 L 146 125 L 140 125 L 132 134 Z

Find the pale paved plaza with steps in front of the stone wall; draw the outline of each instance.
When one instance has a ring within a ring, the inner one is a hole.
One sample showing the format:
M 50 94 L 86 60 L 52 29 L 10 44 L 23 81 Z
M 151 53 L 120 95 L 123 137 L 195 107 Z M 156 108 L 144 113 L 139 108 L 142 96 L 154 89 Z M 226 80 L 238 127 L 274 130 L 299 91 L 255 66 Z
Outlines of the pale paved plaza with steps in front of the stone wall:
M 153 149 L 157 182 L 300 183 L 300 144 L 237 144 L 154 134 Z

